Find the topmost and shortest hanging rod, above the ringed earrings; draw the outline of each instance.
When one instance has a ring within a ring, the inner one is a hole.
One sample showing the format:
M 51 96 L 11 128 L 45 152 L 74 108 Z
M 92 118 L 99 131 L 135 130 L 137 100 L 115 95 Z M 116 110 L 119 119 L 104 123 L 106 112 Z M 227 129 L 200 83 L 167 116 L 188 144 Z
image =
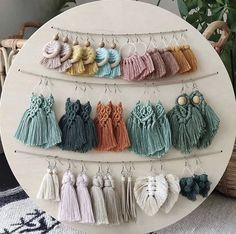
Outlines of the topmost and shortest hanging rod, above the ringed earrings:
M 65 33 L 73 33 L 73 34 L 83 34 L 83 35 L 95 35 L 95 36 L 136 36 L 136 35 L 157 35 L 157 34 L 173 34 L 173 33 L 183 33 L 187 32 L 188 29 L 177 29 L 171 31 L 159 31 L 159 32 L 151 32 L 151 33 L 90 33 L 90 32 L 80 32 L 80 31 L 72 31 L 59 27 L 51 26 L 52 29 L 57 31 L 65 32 Z

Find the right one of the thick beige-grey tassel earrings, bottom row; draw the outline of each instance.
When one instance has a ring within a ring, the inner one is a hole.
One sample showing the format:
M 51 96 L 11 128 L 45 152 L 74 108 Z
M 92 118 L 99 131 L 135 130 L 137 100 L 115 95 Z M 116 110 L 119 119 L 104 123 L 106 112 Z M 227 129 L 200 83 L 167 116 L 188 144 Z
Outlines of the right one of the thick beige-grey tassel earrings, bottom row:
M 107 173 L 104 176 L 103 187 L 104 201 L 106 204 L 107 217 L 109 224 L 120 224 L 123 222 L 121 203 L 118 193 L 115 191 L 115 182 L 108 166 Z

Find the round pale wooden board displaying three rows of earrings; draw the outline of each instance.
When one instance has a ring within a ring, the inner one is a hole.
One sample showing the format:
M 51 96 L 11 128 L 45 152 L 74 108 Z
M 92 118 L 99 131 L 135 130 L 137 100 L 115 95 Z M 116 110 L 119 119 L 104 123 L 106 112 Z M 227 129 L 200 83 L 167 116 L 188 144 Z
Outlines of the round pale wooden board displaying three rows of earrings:
M 13 137 L 22 114 L 28 107 L 31 91 L 40 80 L 36 76 L 19 72 L 19 68 L 62 79 L 78 79 L 87 82 L 103 83 L 114 82 L 114 80 L 109 79 L 68 77 L 65 74 L 58 74 L 57 72 L 49 71 L 42 67 L 39 64 L 42 56 L 42 47 L 46 42 L 50 41 L 55 34 L 55 30 L 51 29 L 51 26 L 91 33 L 148 33 L 184 28 L 188 29 L 186 37 L 196 53 L 199 61 L 199 69 L 193 74 L 173 77 L 170 80 L 190 79 L 209 73 L 219 72 L 219 75 L 217 76 L 202 79 L 197 82 L 198 87 L 205 95 L 207 102 L 213 107 L 216 113 L 218 113 L 221 119 L 219 132 L 212 145 L 206 150 L 196 151 L 196 153 L 205 153 L 223 150 L 223 153 L 221 154 L 209 155 L 202 158 L 203 167 L 212 181 L 211 189 L 214 189 L 229 162 L 236 132 L 236 106 L 234 93 L 230 78 L 219 56 L 196 29 L 178 16 L 166 10 L 135 1 L 98 1 L 73 8 L 55 17 L 40 28 L 20 51 L 6 79 L 2 93 L 0 116 L 3 146 L 16 178 L 39 207 L 47 211 L 53 217 L 57 217 L 56 203 L 35 199 L 42 176 L 47 168 L 47 161 L 33 155 L 15 154 L 15 150 L 58 155 L 72 159 L 101 160 L 105 162 L 112 162 L 113 160 L 140 160 L 140 157 L 128 151 L 120 153 L 101 153 L 93 151 L 82 155 L 80 153 L 63 152 L 56 147 L 49 150 L 30 148 L 20 144 Z M 94 39 L 99 43 L 101 37 L 94 37 Z M 127 40 L 126 38 L 122 39 L 124 41 Z M 123 80 L 115 80 L 115 82 L 125 83 Z M 51 89 L 55 98 L 55 112 L 57 117 L 60 118 L 64 113 L 66 98 L 75 97 L 75 85 L 57 81 L 52 81 L 51 83 Z M 189 86 L 191 86 L 191 83 L 189 83 Z M 127 116 L 127 113 L 131 111 L 137 100 L 145 99 L 144 95 L 142 95 L 144 88 L 122 86 L 121 90 L 122 93 L 119 94 L 119 97 L 116 97 L 116 99 L 120 99 L 123 102 L 125 115 Z M 166 110 L 170 110 L 175 103 L 175 98 L 180 93 L 181 84 L 161 86 L 159 87 L 159 90 L 158 98 L 162 101 Z M 191 92 L 191 87 L 189 92 Z M 87 91 L 87 95 L 91 100 L 93 111 L 95 110 L 95 105 L 99 99 L 107 99 L 104 95 L 103 86 L 94 85 L 93 90 Z M 110 94 L 110 96 L 112 96 L 113 100 L 114 93 Z M 171 150 L 168 155 L 166 155 L 167 158 L 180 156 L 181 154 L 175 150 Z M 194 166 L 195 161 L 190 160 L 190 163 Z M 156 167 L 158 166 L 157 163 Z M 97 170 L 97 165 L 93 163 L 87 164 L 87 167 L 89 169 L 88 173 L 91 176 Z M 165 170 L 181 176 L 184 162 L 172 161 L 165 163 L 164 167 Z M 62 176 L 63 170 L 66 168 L 67 165 L 59 168 L 60 176 Z M 121 165 L 112 164 L 112 169 L 118 183 L 120 180 Z M 147 175 L 150 170 L 150 165 L 149 163 L 135 164 L 135 169 L 135 176 Z M 79 164 L 77 164 L 77 169 L 75 168 L 73 170 L 75 173 L 79 172 Z M 148 217 L 138 209 L 138 219 L 136 223 L 122 224 L 119 226 L 89 226 L 81 225 L 79 223 L 68 223 L 68 225 L 75 227 L 78 230 L 87 231 L 87 233 L 147 233 L 164 228 L 180 220 L 196 209 L 203 200 L 204 199 L 199 196 L 196 202 L 191 202 L 180 196 L 177 204 L 169 214 L 159 212 L 154 217 Z

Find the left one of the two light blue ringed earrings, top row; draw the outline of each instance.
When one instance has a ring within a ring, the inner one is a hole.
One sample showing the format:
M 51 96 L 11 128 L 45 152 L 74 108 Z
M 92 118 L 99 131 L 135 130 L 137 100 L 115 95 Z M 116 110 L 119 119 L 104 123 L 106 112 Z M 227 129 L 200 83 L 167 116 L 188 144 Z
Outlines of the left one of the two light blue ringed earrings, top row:
M 96 76 L 106 77 L 111 73 L 111 65 L 109 64 L 109 51 L 105 48 L 105 43 L 102 39 L 99 48 L 96 49 L 96 62 L 98 71 Z

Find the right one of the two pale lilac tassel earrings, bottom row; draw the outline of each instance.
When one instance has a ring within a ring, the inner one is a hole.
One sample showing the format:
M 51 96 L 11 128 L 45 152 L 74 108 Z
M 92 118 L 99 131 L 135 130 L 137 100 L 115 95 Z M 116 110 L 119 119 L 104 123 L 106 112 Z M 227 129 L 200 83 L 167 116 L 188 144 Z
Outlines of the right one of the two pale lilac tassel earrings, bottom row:
M 82 170 L 77 177 L 76 191 L 80 207 L 81 221 L 80 223 L 93 224 L 95 223 L 91 197 L 88 191 L 89 178 L 86 175 L 85 165 L 82 163 Z

